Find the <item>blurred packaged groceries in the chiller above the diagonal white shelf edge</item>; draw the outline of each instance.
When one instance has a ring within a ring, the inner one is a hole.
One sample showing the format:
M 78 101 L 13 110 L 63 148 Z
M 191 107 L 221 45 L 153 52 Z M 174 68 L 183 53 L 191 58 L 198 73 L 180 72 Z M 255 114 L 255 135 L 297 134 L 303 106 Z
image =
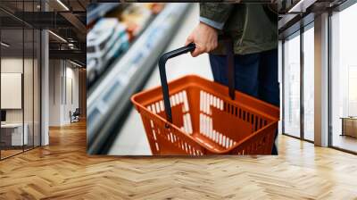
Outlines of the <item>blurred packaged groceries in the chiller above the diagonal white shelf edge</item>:
M 88 86 L 105 76 L 104 71 L 117 62 L 116 58 L 126 53 L 130 44 L 162 11 L 165 4 L 112 4 L 111 9 L 101 5 L 93 5 L 95 14 L 87 13 L 87 16 L 92 16 L 92 22 L 87 26 L 87 64 L 95 65 L 87 71 Z M 100 7 L 105 7 L 107 13 L 97 11 Z M 94 16 L 99 18 L 94 20 Z

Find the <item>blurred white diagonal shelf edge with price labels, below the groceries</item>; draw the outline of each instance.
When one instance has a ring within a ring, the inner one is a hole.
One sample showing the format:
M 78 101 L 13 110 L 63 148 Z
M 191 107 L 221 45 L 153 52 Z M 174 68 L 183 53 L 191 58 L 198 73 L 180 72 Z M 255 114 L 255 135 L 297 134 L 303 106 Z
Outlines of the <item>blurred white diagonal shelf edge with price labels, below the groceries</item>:
M 115 63 L 105 79 L 87 96 L 89 154 L 98 153 L 104 146 L 116 121 L 131 104 L 130 96 L 143 84 L 188 7 L 188 4 L 167 4 L 129 51 Z

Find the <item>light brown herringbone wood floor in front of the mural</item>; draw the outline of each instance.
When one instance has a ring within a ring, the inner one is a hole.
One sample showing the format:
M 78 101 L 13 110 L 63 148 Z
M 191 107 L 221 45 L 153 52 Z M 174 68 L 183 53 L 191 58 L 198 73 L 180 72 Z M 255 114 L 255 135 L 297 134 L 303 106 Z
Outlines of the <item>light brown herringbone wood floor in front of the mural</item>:
M 0 162 L 0 199 L 357 199 L 357 156 L 280 136 L 279 156 L 86 155 L 86 124 Z

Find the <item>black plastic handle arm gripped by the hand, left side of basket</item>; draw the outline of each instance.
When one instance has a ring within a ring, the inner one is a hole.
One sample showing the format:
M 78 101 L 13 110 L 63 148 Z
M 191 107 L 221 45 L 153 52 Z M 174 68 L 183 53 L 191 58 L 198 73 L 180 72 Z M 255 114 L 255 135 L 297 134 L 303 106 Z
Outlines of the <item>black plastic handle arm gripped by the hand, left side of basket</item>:
M 172 123 L 172 114 L 171 114 L 171 105 L 170 105 L 170 96 L 169 96 L 169 86 L 166 79 L 166 62 L 173 57 L 176 57 L 180 54 L 186 54 L 195 50 L 195 44 L 191 43 L 187 46 L 178 48 L 176 50 L 170 51 L 168 53 L 162 54 L 159 59 L 159 70 L 160 70 L 160 79 L 162 81 L 162 95 L 163 95 L 163 104 L 165 105 L 166 120 Z M 168 126 L 166 124 L 166 126 Z

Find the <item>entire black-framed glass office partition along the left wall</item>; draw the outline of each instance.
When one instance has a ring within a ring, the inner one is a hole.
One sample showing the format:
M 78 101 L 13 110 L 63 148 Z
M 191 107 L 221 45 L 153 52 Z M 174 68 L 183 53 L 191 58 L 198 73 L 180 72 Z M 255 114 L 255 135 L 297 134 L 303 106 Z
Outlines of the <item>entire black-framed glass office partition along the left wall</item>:
M 15 14 L 39 1 L 0 1 Z M 0 159 L 40 146 L 40 31 L 0 10 Z

